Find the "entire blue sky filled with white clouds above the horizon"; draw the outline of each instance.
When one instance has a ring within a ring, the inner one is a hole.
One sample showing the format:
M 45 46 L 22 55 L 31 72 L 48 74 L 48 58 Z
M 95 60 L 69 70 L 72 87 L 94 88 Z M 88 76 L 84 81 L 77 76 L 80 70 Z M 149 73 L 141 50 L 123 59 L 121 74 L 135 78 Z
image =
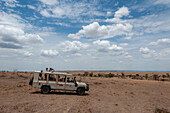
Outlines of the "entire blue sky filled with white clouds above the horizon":
M 170 0 L 0 0 L 0 70 L 170 70 Z

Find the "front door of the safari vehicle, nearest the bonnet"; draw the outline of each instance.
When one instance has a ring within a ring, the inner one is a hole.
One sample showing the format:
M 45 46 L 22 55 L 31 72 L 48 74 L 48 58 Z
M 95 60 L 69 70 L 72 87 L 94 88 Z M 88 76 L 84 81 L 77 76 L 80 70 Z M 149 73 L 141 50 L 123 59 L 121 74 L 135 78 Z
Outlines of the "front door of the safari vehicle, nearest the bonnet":
M 65 90 L 70 90 L 70 91 L 76 90 L 74 81 L 75 80 L 73 76 L 67 76 Z

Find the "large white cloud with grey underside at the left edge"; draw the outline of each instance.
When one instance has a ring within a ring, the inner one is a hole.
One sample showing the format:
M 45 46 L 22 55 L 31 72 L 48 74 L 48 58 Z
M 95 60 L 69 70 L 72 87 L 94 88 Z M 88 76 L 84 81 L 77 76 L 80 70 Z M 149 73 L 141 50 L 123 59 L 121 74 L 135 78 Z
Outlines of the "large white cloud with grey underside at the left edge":
M 37 34 L 25 33 L 29 24 L 15 14 L 0 13 L 0 42 L 2 48 L 21 49 L 25 45 L 41 44 L 44 40 Z

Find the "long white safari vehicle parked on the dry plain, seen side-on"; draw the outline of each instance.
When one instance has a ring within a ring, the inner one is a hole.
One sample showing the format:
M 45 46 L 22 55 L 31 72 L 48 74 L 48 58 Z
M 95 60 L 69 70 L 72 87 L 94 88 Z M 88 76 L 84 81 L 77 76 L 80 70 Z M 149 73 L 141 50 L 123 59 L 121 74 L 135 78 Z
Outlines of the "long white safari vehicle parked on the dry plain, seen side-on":
M 50 93 L 50 90 L 76 91 L 84 95 L 89 90 L 89 84 L 77 82 L 76 77 L 68 73 L 54 71 L 36 71 L 29 82 L 34 88 L 41 88 L 41 93 Z

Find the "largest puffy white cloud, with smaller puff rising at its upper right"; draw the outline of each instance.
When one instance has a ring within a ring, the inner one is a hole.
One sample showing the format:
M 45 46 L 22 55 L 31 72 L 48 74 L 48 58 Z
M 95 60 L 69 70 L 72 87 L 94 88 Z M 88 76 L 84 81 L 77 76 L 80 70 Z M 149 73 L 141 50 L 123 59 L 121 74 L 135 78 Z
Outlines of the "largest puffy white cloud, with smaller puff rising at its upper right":
M 68 37 L 72 39 L 80 39 L 82 37 L 107 39 L 121 35 L 128 36 L 133 26 L 126 20 L 122 20 L 120 18 L 128 16 L 129 13 L 130 11 L 127 7 L 121 7 L 115 12 L 115 18 L 105 20 L 105 22 L 115 24 L 100 25 L 98 22 L 93 22 L 87 26 L 82 26 L 83 29 L 79 30 L 75 34 L 69 34 Z

